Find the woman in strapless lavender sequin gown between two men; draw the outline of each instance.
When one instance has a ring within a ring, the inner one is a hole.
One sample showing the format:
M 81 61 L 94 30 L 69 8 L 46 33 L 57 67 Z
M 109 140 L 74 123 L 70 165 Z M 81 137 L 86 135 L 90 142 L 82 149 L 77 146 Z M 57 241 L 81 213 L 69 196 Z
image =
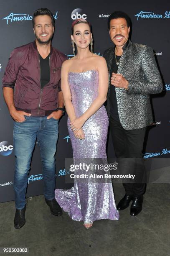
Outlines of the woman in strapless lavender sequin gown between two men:
M 62 65 L 61 90 L 69 116 L 74 164 L 79 164 L 80 159 L 91 159 L 93 163 L 105 159 L 106 163 L 108 117 L 103 104 L 108 90 L 107 64 L 104 58 L 89 51 L 92 34 L 86 20 L 74 21 L 71 38 L 77 54 Z M 74 172 L 81 173 L 80 170 Z M 56 189 L 55 193 L 63 210 L 69 212 L 73 220 L 82 220 L 86 228 L 95 220 L 119 219 L 111 180 L 74 179 L 74 187 Z

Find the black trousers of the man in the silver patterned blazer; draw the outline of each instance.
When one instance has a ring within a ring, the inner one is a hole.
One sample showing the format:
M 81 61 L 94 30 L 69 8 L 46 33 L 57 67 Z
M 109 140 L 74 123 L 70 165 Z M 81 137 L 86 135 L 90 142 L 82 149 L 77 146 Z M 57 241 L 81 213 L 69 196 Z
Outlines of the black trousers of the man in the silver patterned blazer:
M 146 190 L 146 174 L 142 160 L 142 149 L 146 128 L 125 130 L 121 123 L 110 117 L 110 131 L 116 157 L 119 159 L 120 172 L 134 174 L 131 183 L 123 183 L 127 195 L 140 196 Z M 121 162 L 121 158 L 122 162 Z

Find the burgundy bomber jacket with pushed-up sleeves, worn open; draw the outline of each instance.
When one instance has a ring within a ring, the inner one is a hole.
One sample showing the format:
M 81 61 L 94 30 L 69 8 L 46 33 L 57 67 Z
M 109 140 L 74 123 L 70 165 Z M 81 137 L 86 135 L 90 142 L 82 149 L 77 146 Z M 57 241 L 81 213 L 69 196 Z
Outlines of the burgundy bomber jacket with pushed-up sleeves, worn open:
M 61 65 L 67 56 L 53 48 L 50 52 L 50 81 L 41 89 L 40 58 L 36 41 L 15 48 L 3 77 L 3 87 L 14 89 L 17 110 L 33 116 L 49 115 L 58 108 L 61 91 Z

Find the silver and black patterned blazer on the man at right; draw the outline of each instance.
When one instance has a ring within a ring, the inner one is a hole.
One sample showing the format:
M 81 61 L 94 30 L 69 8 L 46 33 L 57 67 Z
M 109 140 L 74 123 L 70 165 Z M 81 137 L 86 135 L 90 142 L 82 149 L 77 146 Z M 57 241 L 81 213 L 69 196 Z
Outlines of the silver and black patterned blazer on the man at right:
M 143 128 L 153 123 L 150 94 L 162 92 L 163 85 L 152 48 L 130 40 L 123 48 L 117 73 L 129 82 L 129 90 L 115 88 L 120 123 L 125 130 Z M 109 70 L 114 57 L 114 48 L 104 52 Z M 112 86 L 112 85 L 111 85 Z M 107 113 L 110 110 L 110 82 L 107 94 Z

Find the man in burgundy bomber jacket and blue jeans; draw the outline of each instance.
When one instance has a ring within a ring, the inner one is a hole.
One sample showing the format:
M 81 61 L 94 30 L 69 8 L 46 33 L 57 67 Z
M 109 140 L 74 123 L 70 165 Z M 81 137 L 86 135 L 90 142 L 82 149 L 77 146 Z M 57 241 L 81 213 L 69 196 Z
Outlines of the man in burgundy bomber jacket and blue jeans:
M 25 224 L 25 193 L 30 161 L 38 140 L 43 164 L 44 196 L 53 215 L 61 215 L 55 200 L 55 152 L 58 120 L 63 115 L 61 65 L 67 57 L 54 49 L 54 18 L 50 10 L 33 15 L 36 40 L 13 50 L 3 77 L 3 94 L 14 119 L 15 228 Z

